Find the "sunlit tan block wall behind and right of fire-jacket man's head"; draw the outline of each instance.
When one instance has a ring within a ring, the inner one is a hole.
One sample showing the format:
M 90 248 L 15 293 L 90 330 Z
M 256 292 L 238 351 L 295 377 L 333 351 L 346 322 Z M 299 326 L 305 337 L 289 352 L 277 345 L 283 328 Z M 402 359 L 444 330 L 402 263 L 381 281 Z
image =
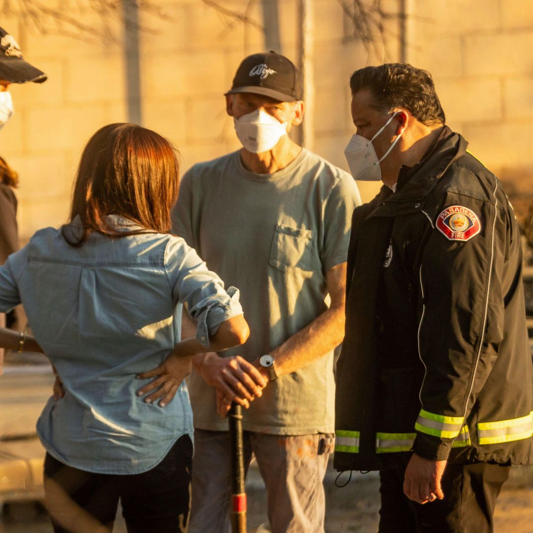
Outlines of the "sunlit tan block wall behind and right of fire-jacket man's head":
M 515 196 L 531 194 L 533 4 L 411 0 L 407 60 L 432 72 L 448 123 Z

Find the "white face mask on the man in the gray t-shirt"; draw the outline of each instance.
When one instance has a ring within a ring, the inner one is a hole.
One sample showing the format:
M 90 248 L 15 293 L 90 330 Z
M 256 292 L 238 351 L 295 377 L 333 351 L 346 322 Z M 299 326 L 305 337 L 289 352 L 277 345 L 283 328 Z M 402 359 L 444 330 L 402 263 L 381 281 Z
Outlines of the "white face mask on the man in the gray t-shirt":
M 287 133 L 287 123 L 280 123 L 263 109 L 233 117 L 233 123 L 239 141 L 253 154 L 268 152 Z

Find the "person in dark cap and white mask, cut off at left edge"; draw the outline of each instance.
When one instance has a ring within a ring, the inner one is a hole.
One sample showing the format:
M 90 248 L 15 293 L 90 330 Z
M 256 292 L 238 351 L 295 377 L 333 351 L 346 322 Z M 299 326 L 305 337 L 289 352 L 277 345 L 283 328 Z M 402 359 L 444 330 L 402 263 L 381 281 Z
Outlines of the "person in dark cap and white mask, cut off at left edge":
M 9 92 L 11 83 L 43 83 L 46 81 L 46 74 L 35 68 L 22 58 L 20 46 L 13 36 L 0 28 L 0 130 L 12 117 L 13 99 Z M 3 162 L 3 159 L 0 158 Z M 19 248 L 19 237 L 17 230 L 17 198 L 15 197 L 10 184 L 16 182 L 17 174 L 14 173 L 7 164 L 0 165 L 0 264 L 4 264 L 7 256 L 17 251 Z M 15 179 L 13 179 L 15 176 Z M 23 315 L 22 309 L 16 308 L 12 312 L 12 320 L 18 322 L 13 327 L 20 329 L 23 324 L 19 318 Z M 0 326 L 5 326 L 6 315 L 0 313 Z M 0 375 L 4 360 L 4 350 L 0 349 Z

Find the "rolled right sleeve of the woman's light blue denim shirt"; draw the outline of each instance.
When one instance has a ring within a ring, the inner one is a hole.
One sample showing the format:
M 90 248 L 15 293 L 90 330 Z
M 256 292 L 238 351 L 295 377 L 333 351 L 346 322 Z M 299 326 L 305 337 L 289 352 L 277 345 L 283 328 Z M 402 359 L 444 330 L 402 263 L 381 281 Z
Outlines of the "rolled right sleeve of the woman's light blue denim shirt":
M 207 348 L 222 322 L 243 314 L 239 290 L 224 290 L 224 282 L 181 238 L 169 243 L 165 264 L 173 294 L 177 301 L 187 304 L 189 316 L 198 322 L 196 338 Z

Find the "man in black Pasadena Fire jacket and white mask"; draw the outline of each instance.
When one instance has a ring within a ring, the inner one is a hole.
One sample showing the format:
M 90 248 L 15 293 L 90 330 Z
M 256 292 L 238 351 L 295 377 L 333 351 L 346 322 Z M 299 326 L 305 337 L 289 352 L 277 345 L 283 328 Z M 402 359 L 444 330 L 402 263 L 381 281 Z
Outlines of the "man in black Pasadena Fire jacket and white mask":
M 491 531 L 532 462 L 519 229 L 499 180 L 445 125 L 428 72 L 354 72 L 356 208 L 337 365 L 337 470 L 379 470 L 381 533 Z M 424 505 L 426 504 L 426 505 Z

